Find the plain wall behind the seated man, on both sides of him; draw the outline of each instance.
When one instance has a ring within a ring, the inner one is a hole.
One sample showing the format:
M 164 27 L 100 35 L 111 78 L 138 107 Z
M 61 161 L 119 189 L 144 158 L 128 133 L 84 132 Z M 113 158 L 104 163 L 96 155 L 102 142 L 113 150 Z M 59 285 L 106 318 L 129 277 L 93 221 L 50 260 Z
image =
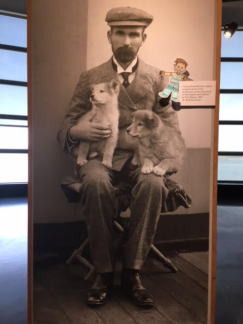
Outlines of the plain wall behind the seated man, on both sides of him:
M 104 21 L 113 7 L 131 6 L 154 16 L 139 55 L 148 64 L 172 71 L 184 58 L 194 80 L 213 79 L 214 1 L 194 0 L 35 0 L 32 2 L 33 218 L 36 223 L 80 219 L 60 182 L 72 173 L 56 134 L 80 72 L 111 56 Z M 205 36 L 207 35 L 207 37 Z M 180 128 L 190 153 L 173 176 L 193 198 L 189 210 L 209 211 L 211 109 L 181 109 Z M 197 150 L 198 149 L 198 150 Z

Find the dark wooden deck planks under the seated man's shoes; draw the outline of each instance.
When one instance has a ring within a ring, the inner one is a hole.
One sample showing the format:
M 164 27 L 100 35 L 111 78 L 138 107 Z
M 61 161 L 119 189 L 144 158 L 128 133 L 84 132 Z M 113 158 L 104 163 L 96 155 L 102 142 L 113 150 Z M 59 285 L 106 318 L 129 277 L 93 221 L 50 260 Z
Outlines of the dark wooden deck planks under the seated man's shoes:
M 90 284 L 83 279 L 85 269 L 82 265 L 37 267 L 34 271 L 34 323 L 206 323 L 207 275 L 179 256 L 174 256 L 172 261 L 176 266 L 180 265 L 178 273 L 170 272 L 156 260 L 145 262 L 142 281 L 155 300 L 155 307 L 150 309 L 133 305 L 121 291 L 118 286 L 120 262 L 115 274 L 116 286 L 109 302 L 96 308 L 90 308 L 85 303 L 85 291 Z

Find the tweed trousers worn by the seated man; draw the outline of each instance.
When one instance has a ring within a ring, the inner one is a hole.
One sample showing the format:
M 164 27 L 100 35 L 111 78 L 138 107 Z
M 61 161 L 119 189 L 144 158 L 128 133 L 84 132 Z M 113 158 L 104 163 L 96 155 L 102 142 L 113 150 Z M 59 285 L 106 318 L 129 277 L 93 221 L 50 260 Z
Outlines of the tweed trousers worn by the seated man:
M 140 270 L 155 235 L 161 206 L 168 195 L 165 178 L 153 173 L 142 174 L 141 168 L 132 167 L 130 160 L 121 171 L 113 171 L 98 159 L 83 165 L 79 177 L 91 256 L 98 273 L 111 272 L 115 266 L 113 220 L 117 208 L 113 185 L 120 179 L 133 185 L 123 266 Z

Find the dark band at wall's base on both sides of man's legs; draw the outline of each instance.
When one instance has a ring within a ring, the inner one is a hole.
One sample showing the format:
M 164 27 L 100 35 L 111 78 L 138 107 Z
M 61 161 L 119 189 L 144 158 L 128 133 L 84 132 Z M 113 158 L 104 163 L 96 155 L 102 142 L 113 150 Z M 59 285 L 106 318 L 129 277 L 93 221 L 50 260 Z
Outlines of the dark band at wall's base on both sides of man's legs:
M 208 236 L 209 213 L 161 215 L 154 243 L 163 246 L 161 251 L 202 251 L 207 250 Z M 86 237 L 85 222 L 33 224 L 34 251 L 58 255 L 75 249 Z

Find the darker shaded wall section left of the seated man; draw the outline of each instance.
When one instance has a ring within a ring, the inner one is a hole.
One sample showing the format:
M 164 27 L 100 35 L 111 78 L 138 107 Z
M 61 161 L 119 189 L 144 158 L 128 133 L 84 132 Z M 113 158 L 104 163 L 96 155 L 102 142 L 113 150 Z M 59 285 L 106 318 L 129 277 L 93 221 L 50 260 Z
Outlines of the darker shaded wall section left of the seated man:
M 80 72 L 86 69 L 87 1 L 32 1 L 33 220 L 72 221 L 60 183 L 72 160 L 57 131 Z

